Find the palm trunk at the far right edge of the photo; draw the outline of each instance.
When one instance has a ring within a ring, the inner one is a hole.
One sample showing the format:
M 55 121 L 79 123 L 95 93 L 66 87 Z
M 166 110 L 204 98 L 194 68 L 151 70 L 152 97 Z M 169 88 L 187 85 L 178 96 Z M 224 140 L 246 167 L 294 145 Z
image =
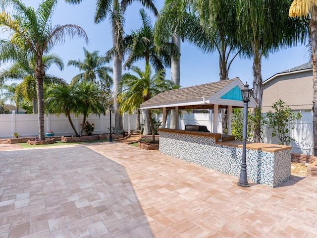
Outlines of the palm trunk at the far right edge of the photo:
M 313 60 L 313 135 L 314 148 L 317 147 L 317 7 L 314 5 L 314 14 L 311 19 L 311 40 L 312 40 L 312 60 Z M 315 155 L 316 156 L 316 155 Z

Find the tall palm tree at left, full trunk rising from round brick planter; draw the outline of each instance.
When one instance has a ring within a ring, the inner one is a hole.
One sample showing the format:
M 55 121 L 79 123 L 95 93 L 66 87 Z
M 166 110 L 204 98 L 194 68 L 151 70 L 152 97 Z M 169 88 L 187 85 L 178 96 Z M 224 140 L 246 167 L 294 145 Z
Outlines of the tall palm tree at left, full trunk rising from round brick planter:
M 56 44 L 63 43 L 66 36 L 84 37 L 88 42 L 85 31 L 72 24 L 50 25 L 53 10 L 57 0 L 44 0 L 35 11 L 27 7 L 21 0 L 8 0 L 12 3 L 15 14 L 2 11 L 0 26 L 9 31 L 9 39 L 0 41 L 0 59 L 2 61 L 18 59 L 21 53 L 34 56 L 35 77 L 37 83 L 39 140 L 45 140 L 44 132 L 44 90 L 45 65 L 43 55 L 50 52 Z

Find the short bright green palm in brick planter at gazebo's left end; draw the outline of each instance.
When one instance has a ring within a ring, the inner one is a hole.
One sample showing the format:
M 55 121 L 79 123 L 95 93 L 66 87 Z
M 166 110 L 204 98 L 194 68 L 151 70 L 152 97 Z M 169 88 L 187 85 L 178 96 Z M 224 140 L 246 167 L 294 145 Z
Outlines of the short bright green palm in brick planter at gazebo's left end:
M 151 75 L 151 66 L 148 65 L 145 71 L 139 67 L 132 66 L 131 70 L 138 76 L 131 73 L 122 75 L 122 91 L 119 94 L 120 108 L 122 112 L 132 112 L 135 108 L 139 108 L 140 104 L 149 100 L 160 92 L 173 88 L 171 80 L 164 80 L 163 72 L 158 71 L 153 76 Z M 151 124 L 152 141 L 155 142 L 155 128 L 152 119 L 151 110 L 148 111 L 148 116 Z

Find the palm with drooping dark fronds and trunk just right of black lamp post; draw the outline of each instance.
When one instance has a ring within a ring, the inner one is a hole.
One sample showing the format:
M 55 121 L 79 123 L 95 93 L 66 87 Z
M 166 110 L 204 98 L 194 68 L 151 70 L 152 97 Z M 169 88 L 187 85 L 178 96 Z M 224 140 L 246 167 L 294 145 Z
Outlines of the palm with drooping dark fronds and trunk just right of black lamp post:
M 289 0 L 238 0 L 237 21 L 238 40 L 245 44 L 244 56 L 253 58 L 253 97 L 257 101 L 256 115 L 261 115 L 262 107 L 262 67 L 263 57 L 269 53 L 303 43 L 307 36 L 304 21 L 288 16 Z M 255 142 L 261 140 L 261 117 L 256 117 Z

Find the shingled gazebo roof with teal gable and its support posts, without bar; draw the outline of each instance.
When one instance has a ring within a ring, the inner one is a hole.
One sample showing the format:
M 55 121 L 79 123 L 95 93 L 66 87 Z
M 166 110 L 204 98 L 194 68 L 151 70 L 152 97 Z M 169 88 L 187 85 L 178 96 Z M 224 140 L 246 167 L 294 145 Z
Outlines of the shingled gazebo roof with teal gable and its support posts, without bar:
M 232 108 L 243 108 L 241 89 L 244 84 L 236 77 L 229 80 L 201 84 L 197 86 L 173 89 L 159 93 L 140 105 L 145 109 L 163 110 L 163 128 L 165 128 L 166 110 L 175 110 L 175 127 L 178 129 L 178 110 L 213 110 L 212 132 L 217 133 L 218 109 L 227 109 L 228 135 L 231 134 Z M 250 108 L 256 107 L 256 100 L 251 97 Z

